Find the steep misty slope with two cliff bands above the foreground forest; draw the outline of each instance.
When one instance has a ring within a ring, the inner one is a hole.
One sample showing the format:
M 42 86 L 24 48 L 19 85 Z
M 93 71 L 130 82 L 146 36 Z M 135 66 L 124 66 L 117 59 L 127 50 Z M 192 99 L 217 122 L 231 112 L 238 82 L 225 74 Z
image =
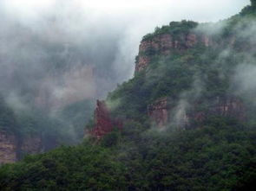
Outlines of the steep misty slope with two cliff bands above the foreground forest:
M 144 36 L 135 78 L 108 95 L 113 115 L 176 127 L 211 116 L 253 120 L 253 100 L 235 81 L 240 67 L 255 66 L 251 9 L 215 25 L 170 22 Z

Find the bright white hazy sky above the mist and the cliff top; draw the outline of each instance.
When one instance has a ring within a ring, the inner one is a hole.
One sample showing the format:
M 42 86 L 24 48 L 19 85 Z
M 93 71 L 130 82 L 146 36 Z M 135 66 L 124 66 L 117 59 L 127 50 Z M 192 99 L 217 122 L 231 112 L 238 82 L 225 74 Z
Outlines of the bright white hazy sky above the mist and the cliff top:
M 34 29 L 47 16 L 56 16 L 73 40 L 90 38 L 87 31 L 123 36 L 117 61 L 130 62 L 137 54 L 142 35 L 156 26 L 182 19 L 216 22 L 238 13 L 249 0 L 1 0 L 10 16 Z M 101 29 L 103 26 L 103 31 Z M 83 36 L 82 36 L 83 35 Z M 125 53 L 124 53 L 125 52 Z M 130 63 L 132 66 L 133 63 Z M 127 65 L 126 65 L 127 66 Z M 120 66 L 117 66 L 120 67 Z M 120 68 L 117 68 L 120 69 Z M 125 68 L 132 73 L 132 67 Z

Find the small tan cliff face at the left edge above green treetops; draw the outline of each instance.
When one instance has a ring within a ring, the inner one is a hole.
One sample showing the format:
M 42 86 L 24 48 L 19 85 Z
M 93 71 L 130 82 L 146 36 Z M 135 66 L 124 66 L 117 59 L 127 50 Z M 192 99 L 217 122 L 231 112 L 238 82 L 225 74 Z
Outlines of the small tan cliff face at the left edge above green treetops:
M 16 162 L 16 137 L 0 132 L 0 164 Z

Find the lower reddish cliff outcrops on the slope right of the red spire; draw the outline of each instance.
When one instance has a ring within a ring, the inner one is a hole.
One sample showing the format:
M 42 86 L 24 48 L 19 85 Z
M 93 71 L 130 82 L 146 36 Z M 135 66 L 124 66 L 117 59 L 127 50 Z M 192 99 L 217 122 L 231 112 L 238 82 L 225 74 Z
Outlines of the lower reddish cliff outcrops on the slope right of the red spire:
M 167 98 L 157 99 L 153 104 L 148 105 L 148 116 L 158 127 L 164 127 L 172 123 L 171 113 L 174 113 L 174 107 L 170 107 L 170 100 Z M 210 116 L 220 116 L 236 118 L 240 121 L 246 120 L 245 106 L 242 101 L 235 97 L 216 98 L 212 104 L 204 111 L 197 111 L 198 103 L 191 105 L 191 111 L 186 111 L 181 116 L 179 124 L 188 125 L 192 121 L 201 122 Z

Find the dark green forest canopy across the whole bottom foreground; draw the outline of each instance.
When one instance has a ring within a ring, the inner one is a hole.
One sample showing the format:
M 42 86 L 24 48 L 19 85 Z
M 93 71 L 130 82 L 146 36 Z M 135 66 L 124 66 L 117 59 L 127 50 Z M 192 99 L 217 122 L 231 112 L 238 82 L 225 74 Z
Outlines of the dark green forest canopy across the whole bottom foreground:
M 136 125 L 130 123 L 128 126 Z M 256 129 L 211 118 L 200 129 L 116 132 L 3 165 L 1 190 L 241 190 L 253 188 Z M 131 132 L 129 132 L 130 134 Z M 131 134 L 130 134 L 131 135 Z M 116 142 L 116 137 L 119 137 Z M 113 147 L 115 145 L 115 147 Z M 109 150 L 108 147 L 112 149 Z M 239 189 L 240 188 L 240 189 Z

